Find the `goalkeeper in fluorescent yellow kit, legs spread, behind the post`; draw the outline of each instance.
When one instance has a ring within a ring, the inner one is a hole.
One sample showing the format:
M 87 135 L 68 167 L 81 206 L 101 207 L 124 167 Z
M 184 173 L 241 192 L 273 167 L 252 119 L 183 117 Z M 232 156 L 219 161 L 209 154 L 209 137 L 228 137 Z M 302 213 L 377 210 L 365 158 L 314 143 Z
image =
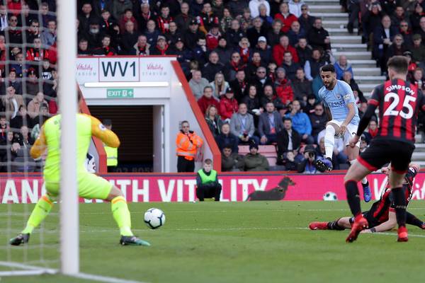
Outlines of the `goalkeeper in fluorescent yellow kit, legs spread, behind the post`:
M 79 100 L 80 98 L 81 93 L 79 93 Z M 28 219 L 26 228 L 18 236 L 11 239 L 10 243 L 13 246 L 28 243 L 30 234 L 49 214 L 55 198 L 60 194 L 60 120 L 61 115 L 56 115 L 47 120 L 40 129 L 40 135 L 31 148 L 30 154 L 33 158 L 39 158 L 47 149 L 47 158 L 43 171 L 47 194 L 38 200 Z M 79 196 L 86 199 L 100 199 L 111 202 L 113 218 L 120 228 L 121 245 L 150 246 L 148 242 L 133 235 L 130 211 L 123 192 L 107 180 L 86 171 L 84 161 L 86 160 L 92 136 L 101 139 L 108 146 L 120 146 L 120 140 L 117 135 L 106 129 L 95 117 L 77 114 L 77 180 Z

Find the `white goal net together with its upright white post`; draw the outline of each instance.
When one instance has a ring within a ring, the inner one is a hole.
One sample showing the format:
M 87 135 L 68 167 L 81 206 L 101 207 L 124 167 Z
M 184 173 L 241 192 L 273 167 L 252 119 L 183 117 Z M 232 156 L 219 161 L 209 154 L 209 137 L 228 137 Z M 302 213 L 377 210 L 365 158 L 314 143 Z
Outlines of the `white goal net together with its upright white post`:
M 73 0 L 0 0 L 0 278 L 79 271 L 72 119 L 77 111 L 76 18 Z M 30 149 L 42 124 L 58 109 L 62 195 L 52 200 L 52 211 L 30 234 L 30 243 L 11 246 L 11 238 L 23 231 L 35 203 L 45 194 L 45 154 L 34 159 Z M 61 221 L 65 209 L 69 219 Z

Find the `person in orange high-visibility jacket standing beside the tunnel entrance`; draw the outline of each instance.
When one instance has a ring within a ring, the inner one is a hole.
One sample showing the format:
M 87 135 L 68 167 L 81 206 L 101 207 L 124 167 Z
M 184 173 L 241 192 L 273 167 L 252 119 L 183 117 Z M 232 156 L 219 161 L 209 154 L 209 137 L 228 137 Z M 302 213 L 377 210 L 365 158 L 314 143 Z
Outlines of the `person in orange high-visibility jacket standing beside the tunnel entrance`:
M 177 172 L 195 171 L 196 152 L 202 144 L 203 140 L 191 131 L 189 122 L 181 122 L 181 130 L 176 139 Z

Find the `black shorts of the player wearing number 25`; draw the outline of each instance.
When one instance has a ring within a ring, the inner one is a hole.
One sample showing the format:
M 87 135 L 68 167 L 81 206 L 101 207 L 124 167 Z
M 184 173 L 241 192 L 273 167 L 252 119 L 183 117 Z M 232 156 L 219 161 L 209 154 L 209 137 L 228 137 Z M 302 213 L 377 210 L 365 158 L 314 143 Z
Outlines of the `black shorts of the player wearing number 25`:
M 409 169 L 413 151 L 414 145 L 404 141 L 372 139 L 357 160 L 370 171 L 376 171 L 391 162 L 393 171 L 404 174 Z

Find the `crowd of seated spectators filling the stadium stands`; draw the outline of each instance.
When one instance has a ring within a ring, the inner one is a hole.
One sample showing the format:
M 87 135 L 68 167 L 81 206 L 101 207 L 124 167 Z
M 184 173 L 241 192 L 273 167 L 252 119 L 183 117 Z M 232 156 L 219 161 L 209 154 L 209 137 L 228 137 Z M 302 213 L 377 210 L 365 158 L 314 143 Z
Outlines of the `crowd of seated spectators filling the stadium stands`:
M 0 171 L 22 157 L 57 112 L 55 0 L 0 3 Z M 322 19 L 302 0 L 79 0 L 79 56 L 176 55 L 222 151 L 222 169 L 268 170 L 259 145 L 277 148 L 278 169 L 315 173 L 327 117 L 320 67 L 334 64 L 367 104 L 345 56 L 334 58 Z M 425 1 L 341 0 L 385 75 L 393 55 L 411 58 L 409 79 L 424 89 Z M 33 13 L 35 11 L 37 13 Z M 70 23 L 71 24 L 71 23 Z M 7 60 L 7 63 L 5 62 Z M 365 132 L 363 149 L 376 134 Z M 250 152 L 239 156 L 239 145 Z M 248 160 L 247 160 L 248 159 Z M 267 161 L 267 160 L 266 160 Z M 346 166 L 344 145 L 334 168 Z

